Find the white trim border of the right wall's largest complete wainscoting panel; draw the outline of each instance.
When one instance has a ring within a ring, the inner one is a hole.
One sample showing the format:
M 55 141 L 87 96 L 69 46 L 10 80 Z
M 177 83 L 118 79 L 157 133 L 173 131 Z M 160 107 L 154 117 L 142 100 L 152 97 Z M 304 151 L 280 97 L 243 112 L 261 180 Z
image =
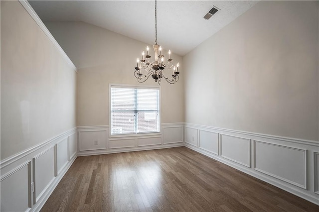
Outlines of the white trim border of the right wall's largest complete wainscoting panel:
M 264 143 L 267 145 L 279 146 L 279 147 L 283 147 L 283 148 L 287 148 L 287 149 L 294 149 L 294 150 L 298 150 L 298 151 L 303 152 L 304 153 L 304 185 L 298 184 L 298 183 L 290 181 L 286 178 L 283 178 L 283 177 L 277 176 L 275 174 L 266 172 L 262 169 L 256 168 L 256 143 Z M 294 147 L 290 147 L 290 146 L 284 146 L 284 145 L 278 145 L 278 144 L 274 144 L 274 143 L 254 140 L 254 170 L 307 190 L 307 150 L 306 149 L 294 148 Z

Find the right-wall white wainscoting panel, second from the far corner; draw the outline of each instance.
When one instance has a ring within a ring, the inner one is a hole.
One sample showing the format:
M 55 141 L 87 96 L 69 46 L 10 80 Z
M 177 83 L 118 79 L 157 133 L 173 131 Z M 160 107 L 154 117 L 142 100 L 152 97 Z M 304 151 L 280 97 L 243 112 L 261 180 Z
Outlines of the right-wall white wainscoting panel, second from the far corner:
M 218 133 L 199 130 L 199 148 L 219 155 Z

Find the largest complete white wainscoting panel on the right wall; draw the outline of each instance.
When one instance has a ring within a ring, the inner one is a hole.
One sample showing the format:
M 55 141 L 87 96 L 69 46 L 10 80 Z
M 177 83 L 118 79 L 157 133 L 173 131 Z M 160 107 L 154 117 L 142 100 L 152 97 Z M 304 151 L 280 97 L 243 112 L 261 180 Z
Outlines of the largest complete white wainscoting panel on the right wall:
M 254 141 L 255 170 L 307 189 L 307 151 Z

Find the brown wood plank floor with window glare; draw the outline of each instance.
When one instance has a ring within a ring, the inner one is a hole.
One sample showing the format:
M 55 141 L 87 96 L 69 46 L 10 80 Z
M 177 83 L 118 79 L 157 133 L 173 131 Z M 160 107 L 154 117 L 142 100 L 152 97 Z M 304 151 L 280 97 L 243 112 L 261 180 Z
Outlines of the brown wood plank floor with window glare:
M 319 212 L 319 206 L 176 147 L 78 157 L 41 211 Z

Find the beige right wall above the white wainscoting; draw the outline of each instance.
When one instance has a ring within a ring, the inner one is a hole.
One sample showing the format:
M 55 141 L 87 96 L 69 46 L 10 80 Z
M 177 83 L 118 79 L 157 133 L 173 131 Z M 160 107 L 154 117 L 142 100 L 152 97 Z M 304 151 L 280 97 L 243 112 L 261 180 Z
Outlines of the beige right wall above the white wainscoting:
M 183 57 L 185 122 L 319 139 L 318 1 L 261 1 Z

